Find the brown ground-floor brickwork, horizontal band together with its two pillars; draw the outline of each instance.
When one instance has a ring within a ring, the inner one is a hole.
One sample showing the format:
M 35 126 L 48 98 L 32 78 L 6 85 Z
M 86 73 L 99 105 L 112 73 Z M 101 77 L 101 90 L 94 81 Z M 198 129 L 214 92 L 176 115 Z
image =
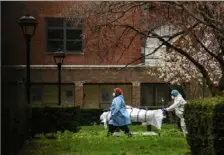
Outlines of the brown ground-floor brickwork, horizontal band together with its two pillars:
M 10 75 L 8 80 L 17 81 L 26 79 L 24 69 L 9 70 Z M 57 69 L 32 69 L 31 82 L 33 83 L 57 83 Z M 5 74 L 5 75 L 6 75 Z M 117 68 L 77 68 L 63 69 L 62 83 L 73 83 L 75 89 L 75 103 L 82 106 L 83 104 L 83 84 L 85 83 L 132 83 L 132 105 L 140 106 L 140 84 L 141 83 L 161 83 L 163 82 L 156 76 L 147 74 L 147 69 L 144 68 L 126 68 L 119 71 Z

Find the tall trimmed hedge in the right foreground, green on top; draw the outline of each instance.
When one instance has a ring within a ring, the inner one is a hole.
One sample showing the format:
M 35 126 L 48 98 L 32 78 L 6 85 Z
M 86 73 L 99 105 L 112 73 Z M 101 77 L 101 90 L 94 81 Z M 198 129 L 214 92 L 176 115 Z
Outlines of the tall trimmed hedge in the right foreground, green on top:
M 193 155 L 224 154 L 224 97 L 191 101 L 184 118 Z

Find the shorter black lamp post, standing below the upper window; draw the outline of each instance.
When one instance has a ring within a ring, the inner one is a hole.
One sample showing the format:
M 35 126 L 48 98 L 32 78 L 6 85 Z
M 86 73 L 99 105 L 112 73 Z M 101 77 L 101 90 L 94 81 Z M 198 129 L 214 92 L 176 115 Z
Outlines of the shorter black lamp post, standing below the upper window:
M 65 58 L 65 52 L 57 51 L 54 53 L 54 62 L 58 66 L 58 105 L 61 105 L 61 65 Z

